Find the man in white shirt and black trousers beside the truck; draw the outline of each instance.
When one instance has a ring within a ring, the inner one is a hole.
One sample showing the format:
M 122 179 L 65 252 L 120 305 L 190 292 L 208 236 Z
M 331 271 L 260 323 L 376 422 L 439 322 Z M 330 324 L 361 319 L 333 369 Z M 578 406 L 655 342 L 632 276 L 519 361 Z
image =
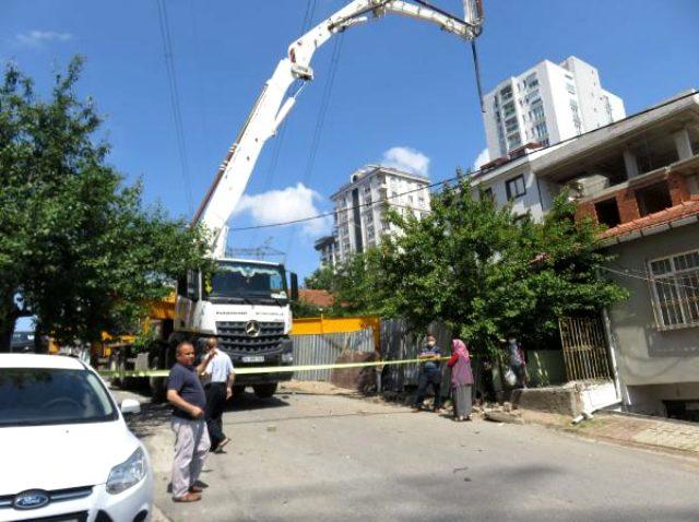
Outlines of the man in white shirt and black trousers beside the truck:
M 204 418 L 211 439 L 211 451 L 220 453 L 230 442 L 230 439 L 223 432 L 222 417 L 226 401 L 233 396 L 233 383 L 236 376 L 230 357 L 225 352 L 217 349 L 216 344 L 216 337 L 209 337 L 206 341 L 208 357 L 211 357 L 211 360 L 203 371 L 209 381 L 204 384 L 206 392 Z

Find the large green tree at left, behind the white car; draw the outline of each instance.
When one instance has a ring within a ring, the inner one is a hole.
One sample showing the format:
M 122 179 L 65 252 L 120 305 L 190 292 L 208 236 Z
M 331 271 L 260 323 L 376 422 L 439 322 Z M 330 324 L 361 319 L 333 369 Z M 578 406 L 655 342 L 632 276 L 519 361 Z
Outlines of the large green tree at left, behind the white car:
M 102 120 L 75 94 L 82 60 L 48 99 L 10 66 L 0 85 L 0 351 L 21 316 L 59 342 L 121 332 L 188 268 L 208 237 L 144 207 L 96 140 Z

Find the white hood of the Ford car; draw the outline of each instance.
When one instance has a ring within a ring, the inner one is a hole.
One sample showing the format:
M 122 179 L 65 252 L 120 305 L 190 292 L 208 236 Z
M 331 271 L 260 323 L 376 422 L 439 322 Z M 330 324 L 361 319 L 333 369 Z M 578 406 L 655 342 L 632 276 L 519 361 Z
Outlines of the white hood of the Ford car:
M 0 496 L 107 482 L 139 447 L 122 419 L 0 428 Z

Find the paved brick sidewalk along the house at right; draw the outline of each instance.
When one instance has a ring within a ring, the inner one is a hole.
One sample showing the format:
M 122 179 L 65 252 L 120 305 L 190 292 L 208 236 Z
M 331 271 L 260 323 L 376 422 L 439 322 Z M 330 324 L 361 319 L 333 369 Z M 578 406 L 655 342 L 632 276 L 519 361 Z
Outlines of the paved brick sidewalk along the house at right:
M 699 456 L 699 424 L 614 412 L 599 412 L 576 426 L 570 417 L 526 410 L 521 418 L 582 437 Z

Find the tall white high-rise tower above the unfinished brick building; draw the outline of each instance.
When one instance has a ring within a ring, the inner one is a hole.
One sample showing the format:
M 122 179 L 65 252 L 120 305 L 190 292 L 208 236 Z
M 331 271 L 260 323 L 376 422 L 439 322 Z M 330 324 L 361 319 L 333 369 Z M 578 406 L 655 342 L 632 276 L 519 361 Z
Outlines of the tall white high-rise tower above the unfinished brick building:
M 624 100 L 602 88 L 600 74 L 573 56 L 544 60 L 484 96 L 491 159 L 528 143 L 555 144 L 626 117 Z

